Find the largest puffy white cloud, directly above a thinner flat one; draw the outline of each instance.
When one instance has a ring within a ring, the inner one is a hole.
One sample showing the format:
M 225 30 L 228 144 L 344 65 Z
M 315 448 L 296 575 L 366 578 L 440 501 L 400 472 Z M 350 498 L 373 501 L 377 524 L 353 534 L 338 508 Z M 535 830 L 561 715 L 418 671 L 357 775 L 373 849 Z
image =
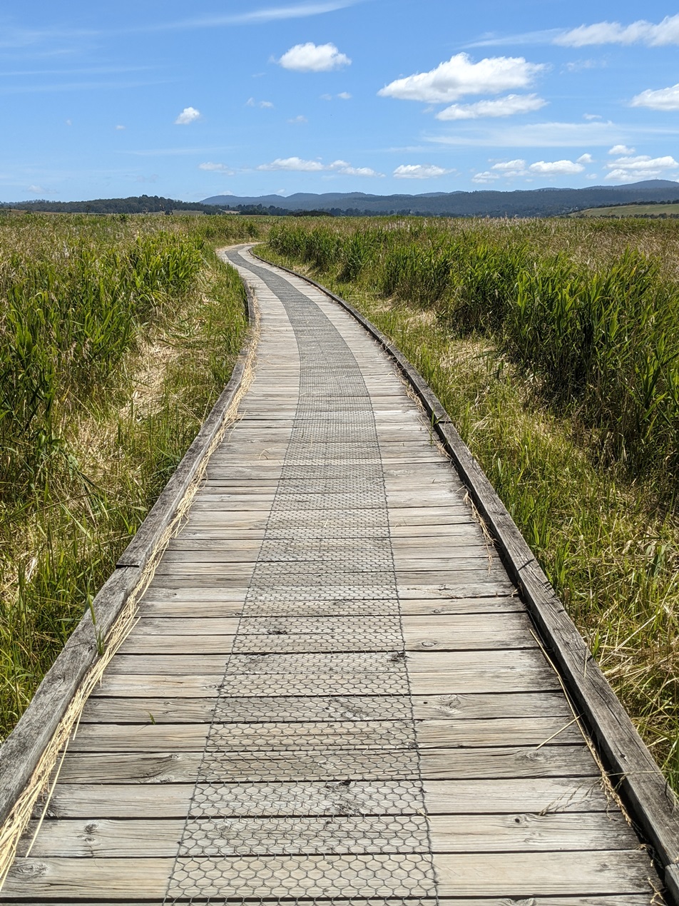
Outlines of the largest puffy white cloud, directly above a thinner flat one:
M 523 57 L 487 57 L 473 63 L 467 53 L 457 53 L 430 72 L 417 72 L 380 89 L 383 98 L 426 103 L 450 103 L 465 94 L 499 94 L 526 88 L 543 70 L 542 63 Z

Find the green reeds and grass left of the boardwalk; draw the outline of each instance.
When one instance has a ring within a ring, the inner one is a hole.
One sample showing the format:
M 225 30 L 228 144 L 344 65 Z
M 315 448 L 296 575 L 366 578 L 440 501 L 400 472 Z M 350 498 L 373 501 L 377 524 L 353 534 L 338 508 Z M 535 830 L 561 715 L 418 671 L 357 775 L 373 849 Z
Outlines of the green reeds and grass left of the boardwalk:
M 244 289 L 234 217 L 0 218 L 0 737 L 216 397 Z

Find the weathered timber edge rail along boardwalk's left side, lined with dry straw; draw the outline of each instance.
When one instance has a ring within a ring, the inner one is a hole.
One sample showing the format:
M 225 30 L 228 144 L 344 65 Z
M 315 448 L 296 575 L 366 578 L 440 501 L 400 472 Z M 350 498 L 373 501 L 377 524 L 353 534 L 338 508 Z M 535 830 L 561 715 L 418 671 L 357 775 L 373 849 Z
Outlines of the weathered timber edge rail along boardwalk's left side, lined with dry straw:
M 185 498 L 202 477 L 207 459 L 232 420 L 231 410 L 242 396 L 256 349 L 258 323 L 253 293 L 247 284 L 244 287 L 247 335 L 230 381 L 120 556 L 115 571 L 100 588 L 91 609 L 72 631 L 28 708 L 0 747 L 0 888 L 60 750 L 73 728 L 77 728 L 84 701 L 124 641 L 126 628 L 134 622 L 136 602 L 146 589 L 177 516 L 181 516 Z M 124 627 L 126 622 L 128 626 Z

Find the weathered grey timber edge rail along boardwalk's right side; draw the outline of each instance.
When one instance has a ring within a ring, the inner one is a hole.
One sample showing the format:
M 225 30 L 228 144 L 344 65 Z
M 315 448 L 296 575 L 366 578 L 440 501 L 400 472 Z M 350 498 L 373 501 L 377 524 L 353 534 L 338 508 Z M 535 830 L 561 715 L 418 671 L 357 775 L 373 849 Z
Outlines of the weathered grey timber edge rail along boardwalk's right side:
M 266 264 L 272 264 L 254 250 L 251 254 Z M 679 906 L 679 802 L 512 516 L 454 428 L 448 413 L 419 371 L 358 309 L 310 277 L 283 265 L 274 266 L 315 286 L 349 312 L 396 362 L 398 370 L 415 390 L 474 506 L 490 529 L 502 561 L 521 591 L 550 658 L 559 668 L 569 697 L 596 740 L 607 776 L 642 837 L 652 847 L 651 855 L 664 874 L 667 892 L 674 906 Z

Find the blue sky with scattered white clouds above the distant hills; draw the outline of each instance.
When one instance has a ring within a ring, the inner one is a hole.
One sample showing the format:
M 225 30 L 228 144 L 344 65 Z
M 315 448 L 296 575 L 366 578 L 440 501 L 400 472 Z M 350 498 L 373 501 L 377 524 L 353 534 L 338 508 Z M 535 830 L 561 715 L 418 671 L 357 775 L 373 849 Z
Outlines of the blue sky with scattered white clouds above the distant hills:
M 0 200 L 679 180 L 679 11 L 16 0 Z

